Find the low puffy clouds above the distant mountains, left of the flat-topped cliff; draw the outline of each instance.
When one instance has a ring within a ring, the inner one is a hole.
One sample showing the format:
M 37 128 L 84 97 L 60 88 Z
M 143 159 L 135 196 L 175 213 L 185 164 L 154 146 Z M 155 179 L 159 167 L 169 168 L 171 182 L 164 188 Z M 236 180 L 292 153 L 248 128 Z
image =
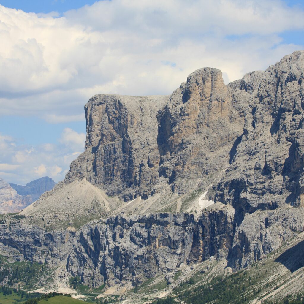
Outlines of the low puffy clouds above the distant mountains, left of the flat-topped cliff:
M 57 144 L 29 147 L 12 143 L 12 137 L 0 134 L 0 177 L 21 185 L 42 176 L 60 181 L 71 161 L 84 150 L 85 134 L 66 128 Z

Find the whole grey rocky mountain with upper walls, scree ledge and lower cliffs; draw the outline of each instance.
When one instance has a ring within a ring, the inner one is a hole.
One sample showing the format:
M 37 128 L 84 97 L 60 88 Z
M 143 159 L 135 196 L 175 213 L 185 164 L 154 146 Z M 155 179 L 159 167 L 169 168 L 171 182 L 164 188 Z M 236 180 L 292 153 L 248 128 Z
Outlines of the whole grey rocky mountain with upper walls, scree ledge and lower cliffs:
M 168 96 L 93 96 L 85 151 L 64 181 L 1 218 L 0 253 L 47 265 L 44 291 L 51 280 L 130 303 L 192 303 L 225 284 L 236 303 L 297 295 L 303 80 L 297 51 L 228 85 L 202 68 Z

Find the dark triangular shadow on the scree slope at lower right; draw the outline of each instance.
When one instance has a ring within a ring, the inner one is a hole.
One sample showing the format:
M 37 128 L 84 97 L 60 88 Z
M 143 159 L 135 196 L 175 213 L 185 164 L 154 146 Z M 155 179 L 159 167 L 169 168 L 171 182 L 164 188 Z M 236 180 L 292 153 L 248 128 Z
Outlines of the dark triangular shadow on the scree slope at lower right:
M 275 262 L 283 264 L 291 272 L 302 268 L 304 266 L 304 241 L 283 252 L 275 259 Z

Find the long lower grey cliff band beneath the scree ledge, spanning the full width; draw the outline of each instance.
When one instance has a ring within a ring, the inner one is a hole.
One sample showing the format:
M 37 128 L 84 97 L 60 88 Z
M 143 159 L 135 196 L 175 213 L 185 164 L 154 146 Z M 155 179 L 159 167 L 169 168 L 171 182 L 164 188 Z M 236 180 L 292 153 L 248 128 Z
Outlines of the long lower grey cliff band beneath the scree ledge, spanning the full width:
M 0 252 L 15 261 L 64 265 L 92 287 L 132 288 L 210 257 L 227 259 L 233 269 L 246 267 L 304 226 L 303 208 L 257 211 L 237 227 L 234 214 L 232 206 L 222 203 L 209 206 L 199 218 L 187 213 L 119 214 L 88 223 L 76 233 L 69 228 L 47 232 L 10 217 L 0 223 Z

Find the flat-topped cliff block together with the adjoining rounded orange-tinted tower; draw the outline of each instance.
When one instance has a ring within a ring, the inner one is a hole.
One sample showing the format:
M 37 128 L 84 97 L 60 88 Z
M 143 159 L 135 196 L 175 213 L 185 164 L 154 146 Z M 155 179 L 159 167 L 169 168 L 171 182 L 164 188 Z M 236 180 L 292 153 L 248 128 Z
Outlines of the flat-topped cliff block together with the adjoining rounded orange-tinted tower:
M 85 152 L 65 182 L 86 178 L 125 201 L 206 187 L 243 133 L 248 100 L 233 89 L 221 71 L 203 68 L 171 96 L 95 95 L 85 105 Z

